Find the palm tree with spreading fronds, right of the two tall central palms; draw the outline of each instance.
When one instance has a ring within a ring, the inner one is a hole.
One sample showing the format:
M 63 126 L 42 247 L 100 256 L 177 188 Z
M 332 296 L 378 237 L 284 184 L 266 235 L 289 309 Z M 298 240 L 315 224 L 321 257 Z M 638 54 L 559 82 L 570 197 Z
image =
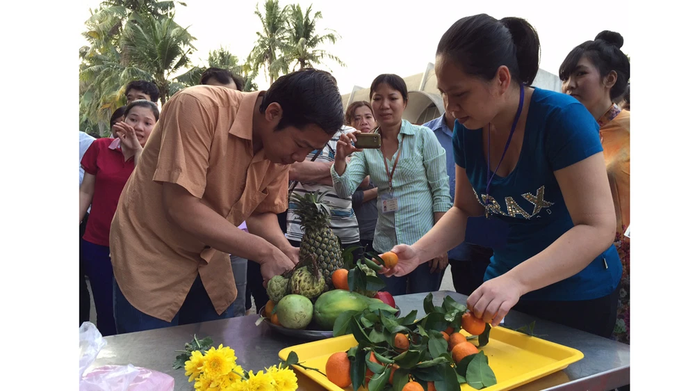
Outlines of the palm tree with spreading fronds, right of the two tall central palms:
M 293 4 L 288 10 L 287 31 L 288 37 L 281 47 L 282 56 L 275 63 L 270 65 L 272 70 L 276 72 L 287 73 L 292 67 L 292 70 L 297 68 L 304 69 L 306 67 L 314 67 L 322 63 L 325 59 L 330 59 L 345 66 L 345 63 L 340 58 L 319 49 L 320 45 L 325 45 L 328 42 L 334 44 L 340 38 L 338 33 L 333 30 L 321 34 L 316 31 L 316 22 L 323 15 L 318 11 L 311 16 L 311 6 L 306 8 L 306 13 L 302 13 L 302 7 L 299 4 Z

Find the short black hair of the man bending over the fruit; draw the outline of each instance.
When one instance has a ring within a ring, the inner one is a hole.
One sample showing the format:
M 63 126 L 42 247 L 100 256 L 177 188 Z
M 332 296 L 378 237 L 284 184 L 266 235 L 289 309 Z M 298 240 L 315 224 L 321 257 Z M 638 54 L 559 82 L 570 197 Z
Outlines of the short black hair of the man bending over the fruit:
M 343 98 L 326 71 L 305 68 L 279 77 L 263 95 L 261 113 L 275 102 L 282 107 L 276 130 L 314 124 L 333 135 L 343 127 Z

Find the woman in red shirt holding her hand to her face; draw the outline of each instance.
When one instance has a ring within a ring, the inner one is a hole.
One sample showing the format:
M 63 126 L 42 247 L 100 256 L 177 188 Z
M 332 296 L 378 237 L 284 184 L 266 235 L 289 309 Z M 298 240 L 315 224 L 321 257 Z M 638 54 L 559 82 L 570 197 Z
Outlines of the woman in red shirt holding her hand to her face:
M 80 221 L 92 205 L 80 246 L 97 310 L 97 328 L 104 336 L 116 333 L 113 269 L 108 250 L 111 220 L 121 191 L 158 119 L 159 110 L 154 103 L 131 102 L 124 112 L 123 122 L 113 125 L 118 138 L 97 138 L 80 162 L 85 170 L 80 186 Z

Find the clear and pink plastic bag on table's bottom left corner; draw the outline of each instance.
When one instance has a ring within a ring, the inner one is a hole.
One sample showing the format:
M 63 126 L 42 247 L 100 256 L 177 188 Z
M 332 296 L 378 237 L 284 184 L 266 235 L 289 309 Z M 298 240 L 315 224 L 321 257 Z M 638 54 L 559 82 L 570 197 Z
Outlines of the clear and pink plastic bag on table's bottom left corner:
M 104 365 L 85 374 L 106 346 L 97 327 L 80 326 L 80 391 L 173 391 L 174 378 L 133 365 Z

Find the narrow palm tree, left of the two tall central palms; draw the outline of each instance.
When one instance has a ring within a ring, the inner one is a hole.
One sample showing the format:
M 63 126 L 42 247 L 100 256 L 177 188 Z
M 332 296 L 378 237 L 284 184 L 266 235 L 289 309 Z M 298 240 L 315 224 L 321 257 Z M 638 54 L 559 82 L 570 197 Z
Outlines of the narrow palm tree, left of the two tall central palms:
M 263 32 L 256 31 L 258 36 L 256 46 L 251 50 L 246 62 L 250 64 L 250 71 L 252 72 L 257 73 L 263 67 L 272 84 L 279 77 L 279 72 L 271 65 L 277 60 L 279 49 L 285 45 L 287 8 L 280 9 L 278 0 L 266 0 L 264 9 L 265 14 L 263 15 L 256 4 L 254 14 L 261 19 Z

